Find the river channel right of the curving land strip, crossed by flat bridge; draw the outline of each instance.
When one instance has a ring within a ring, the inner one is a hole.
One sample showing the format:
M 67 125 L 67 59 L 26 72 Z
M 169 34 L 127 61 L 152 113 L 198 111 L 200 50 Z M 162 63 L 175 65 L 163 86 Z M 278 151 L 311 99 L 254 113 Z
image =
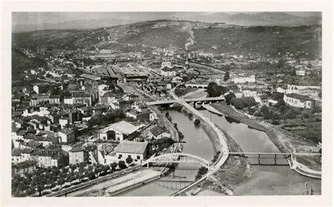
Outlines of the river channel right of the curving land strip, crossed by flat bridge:
M 223 128 L 245 152 L 279 152 L 265 132 L 249 128 L 232 118 L 219 116 L 202 110 L 207 117 Z M 252 161 L 251 161 L 252 162 Z M 262 162 L 262 161 L 261 161 Z M 270 162 L 270 161 L 268 161 Z M 273 162 L 273 159 L 271 159 Z M 282 162 L 282 161 L 280 161 Z M 304 177 L 289 166 L 252 165 L 252 178 L 240 184 L 233 191 L 236 195 L 295 195 L 304 194 L 305 183 L 314 189 L 314 194 L 321 194 L 321 180 Z

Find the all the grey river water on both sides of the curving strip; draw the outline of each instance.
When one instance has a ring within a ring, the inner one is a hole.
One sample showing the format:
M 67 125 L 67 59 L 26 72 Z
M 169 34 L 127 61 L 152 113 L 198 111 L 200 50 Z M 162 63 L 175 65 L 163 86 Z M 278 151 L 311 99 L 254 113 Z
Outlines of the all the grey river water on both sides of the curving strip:
M 192 97 L 203 96 L 205 92 L 194 94 Z M 187 97 L 188 98 L 188 97 Z M 219 125 L 230 134 L 242 151 L 245 152 L 279 152 L 278 148 L 271 142 L 265 132 L 249 128 L 243 123 L 239 123 L 232 118 L 219 116 L 204 109 L 200 110 L 208 118 Z M 173 123 L 177 123 L 178 129 L 185 137 L 183 141 L 183 153 L 191 153 L 196 156 L 211 161 L 214 157 L 214 147 L 204 130 L 195 127 L 192 120 L 187 115 L 178 111 L 168 110 Z M 250 159 L 251 162 L 253 159 Z M 257 160 L 257 159 L 254 159 Z M 261 163 L 263 161 L 261 160 Z M 266 162 L 266 161 L 264 161 Z M 273 158 L 267 162 L 273 162 Z M 278 163 L 286 163 L 285 159 L 280 159 Z M 180 163 L 173 175 L 180 179 L 194 180 L 200 165 Z M 295 195 L 305 194 L 305 183 L 314 189 L 314 194 L 321 194 L 321 180 L 312 179 L 299 175 L 290 170 L 286 165 L 252 165 L 253 176 L 246 182 L 242 182 L 234 189 L 235 195 Z M 118 196 L 169 196 L 178 189 L 185 187 L 186 182 L 161 182 L 155 180 L 140 187 L 130 189 L 118 194 Z M 218 196 L 216 192 L 204 191 L 201 196 Z

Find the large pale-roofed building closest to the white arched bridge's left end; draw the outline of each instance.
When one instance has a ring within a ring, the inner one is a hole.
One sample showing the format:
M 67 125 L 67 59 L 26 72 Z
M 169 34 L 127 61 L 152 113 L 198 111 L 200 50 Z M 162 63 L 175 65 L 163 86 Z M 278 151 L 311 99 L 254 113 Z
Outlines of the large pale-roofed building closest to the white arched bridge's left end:
M 134 163 L 142 163 L 149 156 L 148 142 L 120 142 L 116 149 L 116 157 L 120 161 L 132 158 Z

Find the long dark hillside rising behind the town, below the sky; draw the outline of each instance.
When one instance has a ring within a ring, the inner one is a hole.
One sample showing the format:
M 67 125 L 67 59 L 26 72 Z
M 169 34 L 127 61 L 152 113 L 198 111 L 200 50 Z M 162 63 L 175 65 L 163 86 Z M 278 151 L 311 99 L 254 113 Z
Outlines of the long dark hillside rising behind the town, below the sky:
M 113 49 L 138 51 L 146 44 L 153 47 L 184 49 L 190 28 L 194 32 L 194 45 L 190 50 L 209 51 L 214 54 L 278 54 L 304 51 L 310 56 L 321 52 L 321 26 L 271 27 L 228 26 L 189 21 L 156 20 L 130 25 L 119 25 L 89 30 L 44 30 L 13 34 L 13 45 L 30 47 L 54 46 L 57 49 Z M 130 44 L 130 46 L 129 46 Z M 214 47 L 214 48 L 213 48 Z

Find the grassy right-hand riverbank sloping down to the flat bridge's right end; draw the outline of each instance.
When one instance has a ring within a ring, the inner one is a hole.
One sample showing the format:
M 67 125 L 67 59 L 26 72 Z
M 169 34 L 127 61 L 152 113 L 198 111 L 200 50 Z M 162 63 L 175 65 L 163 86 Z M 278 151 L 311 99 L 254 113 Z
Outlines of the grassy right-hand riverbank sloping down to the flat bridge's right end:
M 281 152 L 307 153 L 318 150 L 318 148 L 314 146 L 314 143 L 307 142 L 307 139 L 304 139 L 304 137 L 297 137 L 294 134 L 286 132 L 285 130 L 264 121 L 248 118 L 247 116 L 234 111 L 233 108 L 230 108 L 225 102 L 213 103 L 211 106 L 224 115 L 240 121 L 241 123 L 245 123 L 255 130 L 266 132 L 269 139 L 271 139 L 271 142 L 273 142 Z M 312 170 L 321 170 L 321 158 L 319 158 L 319 156 L 309 156 L 307 159 L 299 158 L 298 162 Z

